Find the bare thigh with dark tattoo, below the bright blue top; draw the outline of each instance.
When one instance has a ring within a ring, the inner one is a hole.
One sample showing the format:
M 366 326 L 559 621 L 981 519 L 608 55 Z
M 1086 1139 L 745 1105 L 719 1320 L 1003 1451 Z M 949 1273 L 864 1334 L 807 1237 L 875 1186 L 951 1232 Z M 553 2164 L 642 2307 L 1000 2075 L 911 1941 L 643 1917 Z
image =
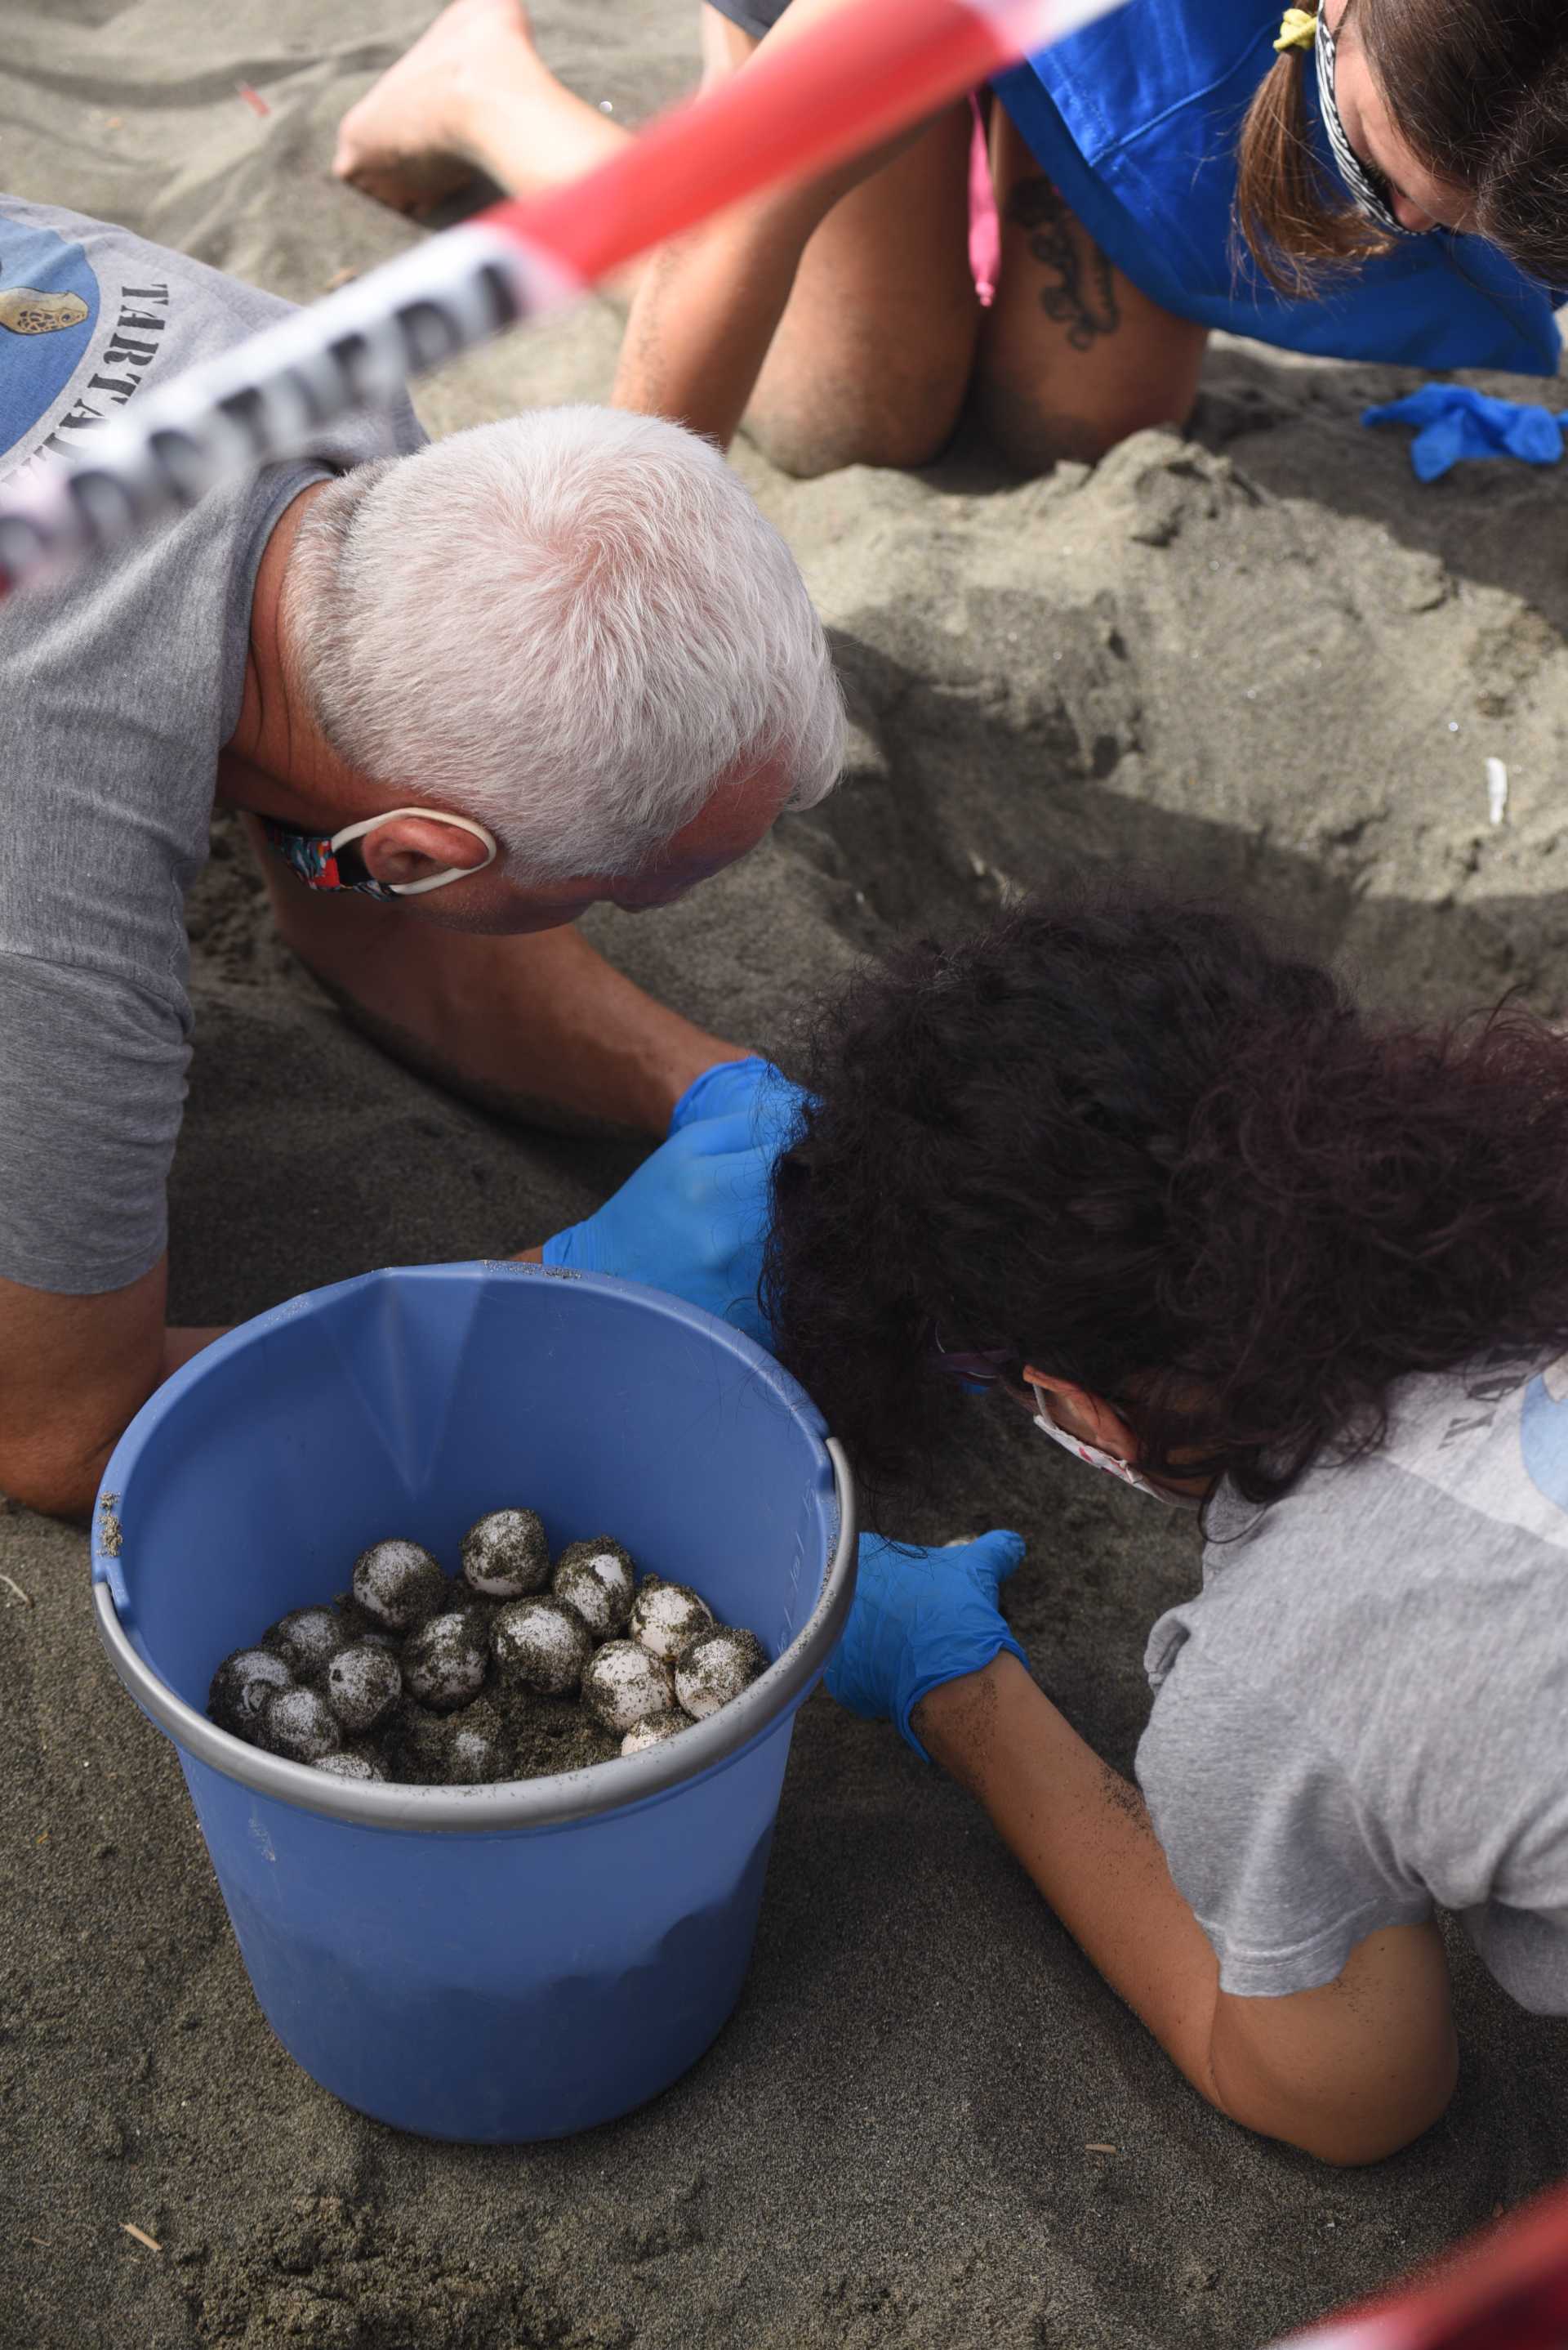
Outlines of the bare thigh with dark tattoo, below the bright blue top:
M 979 411 L 1019 472 L 1094 463 L 1129 432 L 1183 425 L 1207 327 L 1171 317 L 1099 249 L 998 106 L 998 296 L 976 367 Z

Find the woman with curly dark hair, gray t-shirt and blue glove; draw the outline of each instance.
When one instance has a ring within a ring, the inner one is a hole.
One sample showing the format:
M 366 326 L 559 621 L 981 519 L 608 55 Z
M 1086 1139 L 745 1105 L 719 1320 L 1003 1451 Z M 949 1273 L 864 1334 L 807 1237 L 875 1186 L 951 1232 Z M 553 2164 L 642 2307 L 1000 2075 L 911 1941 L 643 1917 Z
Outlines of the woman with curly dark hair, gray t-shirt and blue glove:
M 1214 2106 L 1392 2153 L 1455 2080 L 1434 1904 L 1568 2012 L 1568 1041 L 1376 1020 L 1221 912 L 1033 902 L 859 978 L 800 1119 L 763 1297 L 857 1464 L 984 1382 L 1209 1537 L 1141 1793 L 1021 1664 L 1016 1537 L 869 1542 L 829 1687 Z

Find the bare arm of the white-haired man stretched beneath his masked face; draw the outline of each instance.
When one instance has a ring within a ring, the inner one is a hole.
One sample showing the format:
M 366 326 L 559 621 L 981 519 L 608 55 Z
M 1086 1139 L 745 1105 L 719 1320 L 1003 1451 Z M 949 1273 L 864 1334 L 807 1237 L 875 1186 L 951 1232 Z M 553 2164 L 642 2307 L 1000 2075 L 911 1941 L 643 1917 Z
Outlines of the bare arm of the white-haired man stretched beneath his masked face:
M 570 926 L 479 938 L 317 895 L 275 858 L 263 870 L 282 938 L 354 1025 L 498 1116 L 662 1135 L 695 1076 L 746 1053 L 655 1003 Z

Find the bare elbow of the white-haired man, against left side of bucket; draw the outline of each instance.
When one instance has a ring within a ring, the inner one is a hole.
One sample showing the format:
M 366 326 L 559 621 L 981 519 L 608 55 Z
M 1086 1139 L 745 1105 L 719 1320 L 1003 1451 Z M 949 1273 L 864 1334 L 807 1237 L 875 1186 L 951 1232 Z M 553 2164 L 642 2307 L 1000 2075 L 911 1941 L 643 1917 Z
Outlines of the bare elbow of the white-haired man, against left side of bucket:
M 155 1386 L 218 1337 L 164 1328 L 169 1260 L 124 1290 L 59 1297 L 0 1281 L 0 1488 L 82 1518 Z

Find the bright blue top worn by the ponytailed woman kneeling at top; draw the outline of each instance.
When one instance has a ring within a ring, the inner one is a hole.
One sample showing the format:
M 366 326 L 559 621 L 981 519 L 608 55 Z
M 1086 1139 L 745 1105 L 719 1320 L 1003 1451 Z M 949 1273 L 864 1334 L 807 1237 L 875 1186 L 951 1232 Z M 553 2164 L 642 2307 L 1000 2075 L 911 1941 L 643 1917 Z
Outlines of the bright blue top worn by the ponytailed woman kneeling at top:
M 1164 310 L 1329 360 L 1556 374 L 1552 291 L 1481 237 L 1401 237 L 1307 301 L 1258 275 L 1232 221 L 1235 143 L 1277 31 L 1275 0 L 1127 0 L 995 92 L 1096 244 Z M 1305 87 L 1333 186 L 1312 73 Z

